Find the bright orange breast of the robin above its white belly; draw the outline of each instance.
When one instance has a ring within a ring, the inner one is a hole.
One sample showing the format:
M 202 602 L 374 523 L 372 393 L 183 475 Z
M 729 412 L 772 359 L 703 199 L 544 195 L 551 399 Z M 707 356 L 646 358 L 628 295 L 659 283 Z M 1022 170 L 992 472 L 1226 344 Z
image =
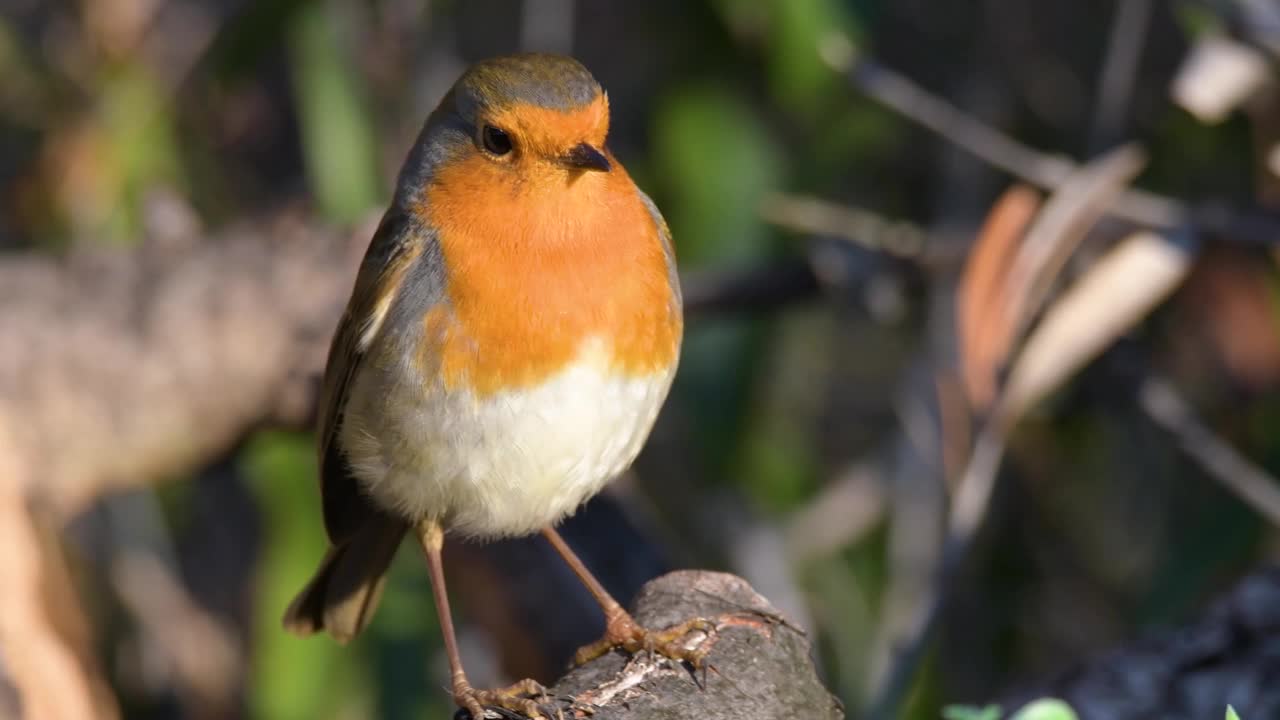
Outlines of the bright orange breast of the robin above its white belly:
M 603 341 L 608 370 L 672 366 L 681 314 L 658 220 L 621 165 L 567 177 L 483 156 L 442 168 L 419 206 L 448 302 L 424 319 L 424 368 L 479 396 L 539 384 Z

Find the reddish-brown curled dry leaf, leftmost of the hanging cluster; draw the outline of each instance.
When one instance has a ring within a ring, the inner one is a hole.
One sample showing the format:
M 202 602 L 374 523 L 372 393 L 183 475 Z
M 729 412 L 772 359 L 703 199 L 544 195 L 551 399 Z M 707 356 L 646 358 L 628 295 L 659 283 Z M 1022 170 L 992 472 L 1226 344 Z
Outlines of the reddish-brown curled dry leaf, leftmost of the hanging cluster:
M 1005 191 L 987 215 L 965 261 L 956 291 L 956 332 L 965 396 L 974 410 L 996 397 L 996 373 L 1009 354 L 1012 328 L 1002 327 L 1005 281 L 1019 240 L 1039 209 L 1041 195 L 1025 184 Z

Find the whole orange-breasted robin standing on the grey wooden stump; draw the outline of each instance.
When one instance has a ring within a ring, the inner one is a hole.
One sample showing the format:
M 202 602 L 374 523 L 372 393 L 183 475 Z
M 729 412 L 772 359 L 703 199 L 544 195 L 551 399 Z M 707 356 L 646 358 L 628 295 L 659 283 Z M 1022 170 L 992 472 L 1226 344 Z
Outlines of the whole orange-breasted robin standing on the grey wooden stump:
M 285 629 L 346 643 L 412 533 L 426 559 L 453 701 L 536 716 L 532 680 L 477 689 L 458 657 L 445 534 L 541 533 L 600 605 L 612 648 L 695 667 L 690 619 L 650 630 L 556 525 L 626 470 L 678 365 L 682 300 L 667 223 L 609 151 L 608 95 L 577 60 L 492 58 L 430 113 L 361 261 L 319 400 L 329 548 Z

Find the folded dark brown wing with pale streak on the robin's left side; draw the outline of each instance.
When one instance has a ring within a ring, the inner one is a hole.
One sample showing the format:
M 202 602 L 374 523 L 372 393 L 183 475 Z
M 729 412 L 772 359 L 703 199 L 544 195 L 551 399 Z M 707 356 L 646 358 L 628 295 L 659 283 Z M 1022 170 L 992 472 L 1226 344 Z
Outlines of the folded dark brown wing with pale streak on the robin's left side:
M 329 346 L 320 392 L 317 441 L 324 524 L 334 544 L 342 544 L 372 518 L 384 515 L 361 492 L 338 447 L 337 436 L 351 380 L 399 295 L 406 270 L 421 255 L 426 241 L 416 220 L 403 211 L 392 208 L 383 215 L 360 264 L 347 311 Z

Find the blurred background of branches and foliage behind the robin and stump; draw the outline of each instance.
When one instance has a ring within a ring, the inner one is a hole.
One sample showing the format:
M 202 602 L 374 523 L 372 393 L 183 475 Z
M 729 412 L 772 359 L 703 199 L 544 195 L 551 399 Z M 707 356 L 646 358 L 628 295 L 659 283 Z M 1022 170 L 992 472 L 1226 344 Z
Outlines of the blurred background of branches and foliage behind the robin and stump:
M 1280 717 L 1268 0 L 0 0 L 0 717 L 452 714 L 412 547 L 352 646 L 279 618 L 355 265 L 516 50 L 608 90 L 689 301 L 566 527 L 620 597 L 745 577 L 851 717 Z M 538 541 L 445 557 L 479 685 L 602 629 Z

